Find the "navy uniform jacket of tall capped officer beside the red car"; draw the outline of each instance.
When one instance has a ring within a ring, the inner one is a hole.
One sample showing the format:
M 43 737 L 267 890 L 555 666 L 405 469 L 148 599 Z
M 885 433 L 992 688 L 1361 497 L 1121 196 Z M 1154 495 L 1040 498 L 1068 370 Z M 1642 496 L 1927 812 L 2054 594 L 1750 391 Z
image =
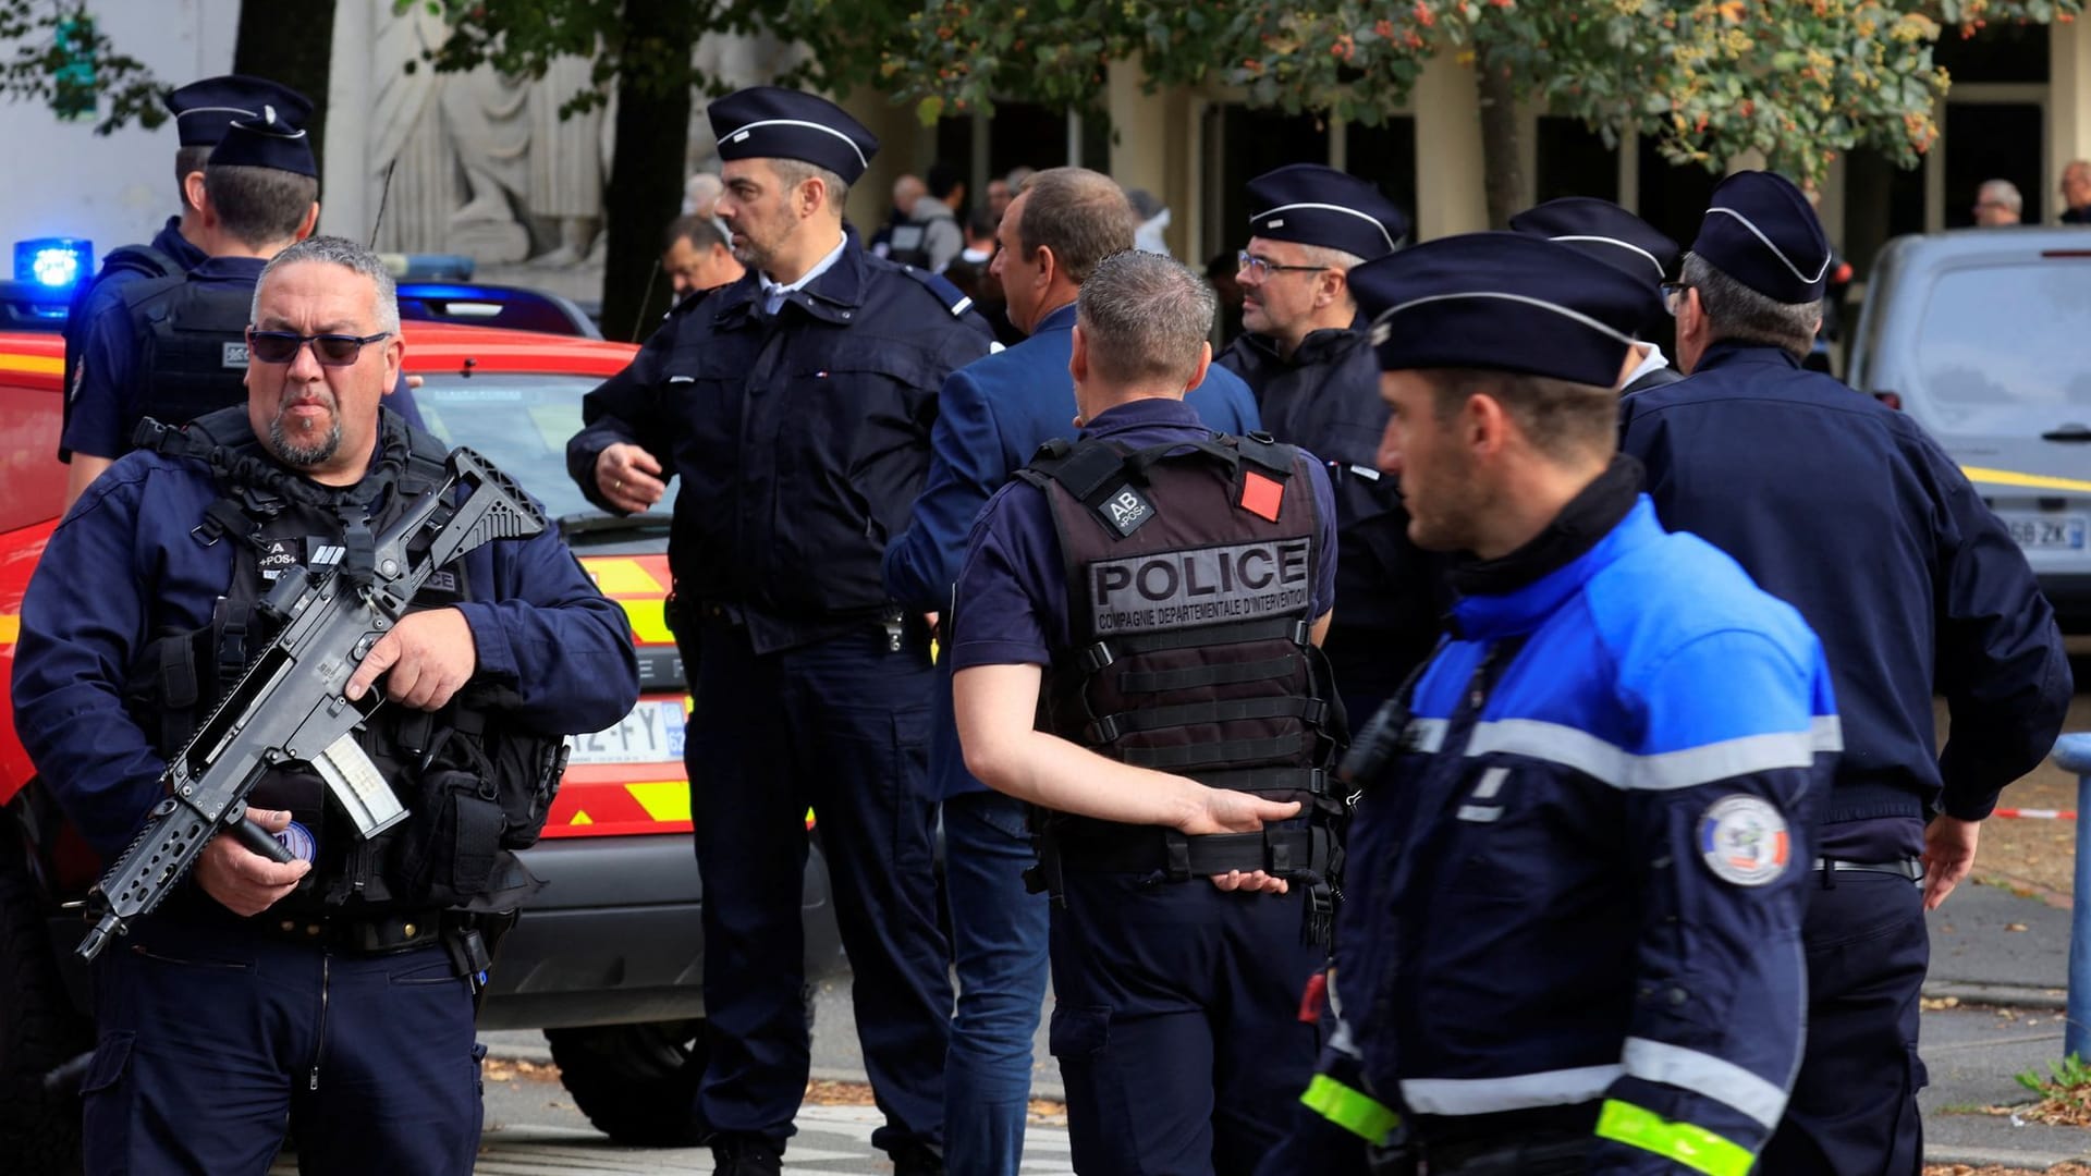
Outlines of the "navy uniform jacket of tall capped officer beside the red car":
M 677 475 L 675 592 L 744 621 L 757 653 L 861 628 L 891 598 L 880 559 L 922 492 L 937 389 L 991 341 L 953 301 L 953 287 L 872 257 L 855 232 L 774 316 L 749 270 L 669 312 L 583 398 L 567 471 L 606 511 L 596 458 L 608 446 L 644 446 Z

